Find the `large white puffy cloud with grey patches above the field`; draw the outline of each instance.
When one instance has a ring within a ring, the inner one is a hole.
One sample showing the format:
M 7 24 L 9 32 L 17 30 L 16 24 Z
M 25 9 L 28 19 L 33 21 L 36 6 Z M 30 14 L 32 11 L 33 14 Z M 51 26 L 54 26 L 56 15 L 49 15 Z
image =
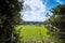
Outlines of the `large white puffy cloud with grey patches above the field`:
M 46 20 L 46 4 L 42 0 L 25 0 L 22 14 L 24 20 L 43 22 Z

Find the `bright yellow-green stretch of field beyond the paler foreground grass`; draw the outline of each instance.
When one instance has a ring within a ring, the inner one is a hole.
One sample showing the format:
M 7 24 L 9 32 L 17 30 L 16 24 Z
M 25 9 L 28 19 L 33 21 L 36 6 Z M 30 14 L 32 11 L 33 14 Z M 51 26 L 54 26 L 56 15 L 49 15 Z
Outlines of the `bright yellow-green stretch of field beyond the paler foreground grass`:
M 24 38 L 40 38 L 41 35 L 44 38 L 49 37 L 47 34 L 48 29 L 44 26 L 23 25 L 20 27 L 22 27 L 21 35 L 23 35 Z

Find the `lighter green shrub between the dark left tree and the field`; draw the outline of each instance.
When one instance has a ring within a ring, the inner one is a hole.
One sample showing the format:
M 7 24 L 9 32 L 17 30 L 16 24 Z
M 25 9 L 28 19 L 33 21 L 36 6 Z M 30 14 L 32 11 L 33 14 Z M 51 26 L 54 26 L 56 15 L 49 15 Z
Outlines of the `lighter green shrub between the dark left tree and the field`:
M 18 25 L 20 26 L 20 25 Z M 15 29 L 13 30 L 13 37 L 12 39 L 14 40 L 12 43 L 23 43 L 22 39 L 22 27 L 16 26 Z

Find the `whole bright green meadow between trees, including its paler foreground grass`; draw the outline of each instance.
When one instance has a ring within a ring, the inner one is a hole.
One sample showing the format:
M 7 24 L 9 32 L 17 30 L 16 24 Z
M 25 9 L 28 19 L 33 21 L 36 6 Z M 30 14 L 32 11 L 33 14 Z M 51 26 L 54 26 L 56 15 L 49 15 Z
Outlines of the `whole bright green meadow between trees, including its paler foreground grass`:
M 31 43 L 34 41 L 39 41 L 39 43 L 46 41 L 49 38 L 48 29 L 43 25 L 22 25 L 16 27 L 17 29 L 21 29 L 21 35 L 23 37 L 23 40 L 25 43 Z

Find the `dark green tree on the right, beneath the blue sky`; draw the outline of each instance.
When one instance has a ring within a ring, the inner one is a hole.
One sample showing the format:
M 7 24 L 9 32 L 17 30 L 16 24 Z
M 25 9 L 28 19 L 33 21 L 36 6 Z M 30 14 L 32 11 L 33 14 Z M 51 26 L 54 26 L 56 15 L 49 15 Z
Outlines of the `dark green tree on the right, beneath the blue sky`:
M 60 30 L 57 35 L 65 43 L 65 4 L 57 5 L 51 12 L 53 15 L 50 17 L 50 24 Z

